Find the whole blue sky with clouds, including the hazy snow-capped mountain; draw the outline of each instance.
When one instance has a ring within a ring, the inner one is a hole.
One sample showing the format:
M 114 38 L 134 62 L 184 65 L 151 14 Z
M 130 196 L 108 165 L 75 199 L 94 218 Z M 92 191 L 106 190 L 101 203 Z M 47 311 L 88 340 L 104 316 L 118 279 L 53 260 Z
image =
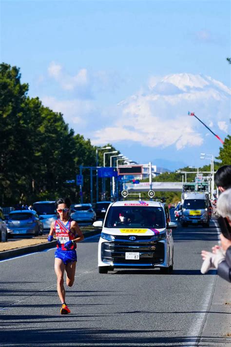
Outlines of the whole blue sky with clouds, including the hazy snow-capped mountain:
M 231 87 L 230 7 L 225 0 L 1 1 L 1 61 L 19 66 L 29 95 L 93 143 L 113 139 L 140 163 L 197 166 L 200 152 L 217 155 L 220 143 L 187 118 L 189 107 L 221 138 L 229 132 L 230 93 L 214 80 Z

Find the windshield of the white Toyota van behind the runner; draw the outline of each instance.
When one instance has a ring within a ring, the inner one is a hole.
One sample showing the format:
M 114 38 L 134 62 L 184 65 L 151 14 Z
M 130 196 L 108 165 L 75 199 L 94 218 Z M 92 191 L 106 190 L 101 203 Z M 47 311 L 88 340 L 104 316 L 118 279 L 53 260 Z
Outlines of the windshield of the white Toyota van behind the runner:
M 154 206 L 112 206 L 107 214 L 107 228 L 164 228 L 163 208 Z

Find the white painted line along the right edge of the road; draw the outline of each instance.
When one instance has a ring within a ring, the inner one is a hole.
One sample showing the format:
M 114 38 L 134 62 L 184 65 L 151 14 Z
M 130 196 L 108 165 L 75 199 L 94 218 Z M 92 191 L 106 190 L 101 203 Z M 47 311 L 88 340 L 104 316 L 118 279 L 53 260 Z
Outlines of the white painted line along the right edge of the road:
M 217 231 L 217 237 L 219 240 L 220 235 L 220 229 L 217 225 L 217 222 L 214 220 L 211 220 L 211 222 L 214 223 Z M 215 290 L 215 284 L 217 281 L 217 276 L 212 276 L 212 284 L 208 286 L 207 291 L 205 295 L 203 296 L 200 305 L 200 312 L 197 314 L 197 317 L 195 318 L 195 321 L 193 322 L 192 326 L 189 329 L 189 332 L 187 333 L 187 337 L 194 337 L 195 341 L 184 341 L 184 346 L 198 346 L 198 343 L 200 341 L 201 332 L 203 331 L 203 327 L 205 326 L 207 316 L 209 314 L 210 305 L 212 303 L 212 296 Z M 199 309 L 198 309 L 199 310 Z

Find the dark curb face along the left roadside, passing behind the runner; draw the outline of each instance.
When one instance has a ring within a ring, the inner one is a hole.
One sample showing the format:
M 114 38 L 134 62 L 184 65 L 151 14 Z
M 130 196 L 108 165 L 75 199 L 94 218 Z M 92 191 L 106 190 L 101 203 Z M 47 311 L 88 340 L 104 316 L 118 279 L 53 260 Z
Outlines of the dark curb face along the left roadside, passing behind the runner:
M 93 235 L 97 235 L 97 234 L 100 234 L 99 229 L 83 233 L 84 239 L 87 239 L 88 237 L 93 236 Z M 52 241 L 52 242 L 46 242 L 44 244 L 38 244 L 38 245 L 32 245 L 32 246 L 21 247 L 21 248 L 16 248 L 16 249 L 10 249 L 7 251 L 0 252 L 0 260 L 15 258 L 15 257 L 18 257 L 20 255 L 40 252 L 42 250 L 55 248 L 55 247 L 56 247 L 56 241 Z

